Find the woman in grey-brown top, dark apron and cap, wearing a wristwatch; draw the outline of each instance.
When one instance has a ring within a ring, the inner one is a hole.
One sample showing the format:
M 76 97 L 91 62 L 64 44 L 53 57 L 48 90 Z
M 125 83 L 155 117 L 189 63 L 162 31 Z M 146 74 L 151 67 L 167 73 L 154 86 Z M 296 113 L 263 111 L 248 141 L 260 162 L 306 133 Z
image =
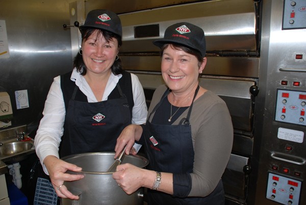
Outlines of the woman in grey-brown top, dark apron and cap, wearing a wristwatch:
M 198 85 L 207 62 L 205 34 L 181 22 L 154 44 L 161 48 L 166 85 L 155 91 L 146 124 L 127 126 L 115 147 L 116 156 L 125 145 L 129 154 L 136 140 L 150 163 L 148 169 L 122 164 L 113 178 L 128 194 L 149 188 L 148 204 L 224 204 L 221 176 L 231 155 L 233 125 L 225 102 Z

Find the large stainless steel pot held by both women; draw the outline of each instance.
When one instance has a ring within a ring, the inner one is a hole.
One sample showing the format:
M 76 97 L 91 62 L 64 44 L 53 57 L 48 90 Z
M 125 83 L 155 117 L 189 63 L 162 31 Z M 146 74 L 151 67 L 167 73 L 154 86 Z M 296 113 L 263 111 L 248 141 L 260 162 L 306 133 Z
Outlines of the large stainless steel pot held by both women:
M 82 167 L 81 172 L 67 171 L 67 173 L 85 175 L 82 180 L 64 183 L 67 189 L 74 195 L 79 195 L 80 199 L 63 198 L 62 205 L 142 205 L 144 188 L 128 195 L 117 185 L 112 177 L 112 172 L 106 172 L 114 162 L 114 156 L 114 152 L 90 152 L 62 158 L 68 163 Z M 143 168 L 148 165 L 148 160 L 138 155 L 129 155 L 124 157 L 122 164 L 124 163 Z

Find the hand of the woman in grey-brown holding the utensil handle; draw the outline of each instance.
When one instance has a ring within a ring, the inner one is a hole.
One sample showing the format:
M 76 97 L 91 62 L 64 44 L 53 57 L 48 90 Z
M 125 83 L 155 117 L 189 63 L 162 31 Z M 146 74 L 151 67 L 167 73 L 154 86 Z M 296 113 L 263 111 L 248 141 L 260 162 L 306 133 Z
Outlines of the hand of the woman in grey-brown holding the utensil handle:
M 124 127 L 119 137 L 117 138 L 117 143 L 115 146 L 115 158 L 119 156 L 120 152 L 123 150 L 126 145 L 125 153 L 126 155 L 136 155 L 137 152 L 133 148 L 135 140 L 138 141 L 142 134 L 142 127 L 137 124 L 130 124 Z

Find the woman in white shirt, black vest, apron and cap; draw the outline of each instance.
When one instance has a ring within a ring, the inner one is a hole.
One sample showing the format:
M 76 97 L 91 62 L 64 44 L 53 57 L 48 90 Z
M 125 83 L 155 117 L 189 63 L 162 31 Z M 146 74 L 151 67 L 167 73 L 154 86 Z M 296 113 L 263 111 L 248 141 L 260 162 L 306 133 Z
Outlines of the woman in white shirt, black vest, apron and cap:
M 123 71 L 119 17 L 93 10 L 80 27 L 82 48 L 74 69 L 57 76 L 50 87 L 35 137 L 37 156 L 59 197 L 78 199 L 63 185 L 83 175 L 82 168 L 60 158 L 75 153 L 114 151 L 116 139 L 131 123 L 143 124 L 147 107 L 136 75 Z

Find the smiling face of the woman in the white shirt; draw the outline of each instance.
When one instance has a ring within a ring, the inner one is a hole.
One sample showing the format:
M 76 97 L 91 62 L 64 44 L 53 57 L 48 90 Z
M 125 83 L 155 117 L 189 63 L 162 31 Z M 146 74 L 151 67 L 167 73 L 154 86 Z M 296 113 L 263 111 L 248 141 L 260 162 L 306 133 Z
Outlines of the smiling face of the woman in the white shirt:
M 95 30 L 82 42 L 82 52 L 88 73 L 110 74 L 119 52 L 118 41 L 112 38 L 107 42 L 103 34 Z

